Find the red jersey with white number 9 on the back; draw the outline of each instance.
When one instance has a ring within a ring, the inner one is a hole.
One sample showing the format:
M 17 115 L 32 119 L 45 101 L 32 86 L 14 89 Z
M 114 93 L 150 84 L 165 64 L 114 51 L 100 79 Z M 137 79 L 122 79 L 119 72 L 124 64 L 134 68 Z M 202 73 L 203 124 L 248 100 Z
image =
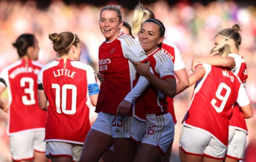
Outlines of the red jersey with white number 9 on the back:
M 246 106 L 250 101 L 242 82 L 230 70 L 202 65 L 205 75 L 194 89 L 184 125 L 205 130 L 227 145 L 232 105 Z

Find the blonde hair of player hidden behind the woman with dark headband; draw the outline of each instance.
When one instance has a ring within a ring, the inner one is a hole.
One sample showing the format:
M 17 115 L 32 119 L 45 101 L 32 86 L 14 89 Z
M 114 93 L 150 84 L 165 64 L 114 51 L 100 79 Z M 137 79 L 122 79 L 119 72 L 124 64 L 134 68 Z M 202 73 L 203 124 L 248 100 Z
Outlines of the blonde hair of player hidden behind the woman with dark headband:
M 150 9 L 143 7 L 142 3 L 139 3 L 133 11 L 132 35 L 137 35 L 142 23 L 150 18 L 155 18 L 154 13 Z

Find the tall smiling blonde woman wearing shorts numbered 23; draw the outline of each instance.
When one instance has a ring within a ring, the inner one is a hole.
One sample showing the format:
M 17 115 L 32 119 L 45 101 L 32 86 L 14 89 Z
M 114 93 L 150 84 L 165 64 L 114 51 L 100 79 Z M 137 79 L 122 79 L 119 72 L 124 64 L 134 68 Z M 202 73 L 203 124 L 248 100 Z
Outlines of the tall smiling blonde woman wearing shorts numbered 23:
M 98 53 L 104 82 L 95 109 L 98 116 L 86 137 L 80 161 L 99 161 L 112 144 L 115 161 L 133 161 L 137 143 L 142 140 L 145 114 L 132 104 L 148 85 L 146 78 L 136 75 L 133 63 L 146 62 L 147 56 L 138 41 L 121 32 L 120 6 L 103 7 L 99 25 L 105 37 Z M 132 88 L 136 94 L 128 94 Z

